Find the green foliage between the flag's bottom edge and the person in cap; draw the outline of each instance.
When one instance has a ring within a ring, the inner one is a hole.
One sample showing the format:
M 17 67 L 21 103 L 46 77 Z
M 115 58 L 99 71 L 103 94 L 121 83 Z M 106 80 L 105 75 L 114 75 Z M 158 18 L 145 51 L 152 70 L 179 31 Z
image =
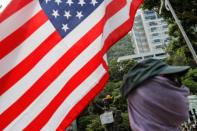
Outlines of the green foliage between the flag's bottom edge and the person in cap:
M 126 100 L 121 97 L 120 87 L 122 85 L 124 73 L 126 73 L 134 63 L 134 61 L 124 61 L 118 63 L 115 59 L 112 59 L 109 62 L 109 72 L 112 77 L 110 77 L 110 80 L 106 84 L 104 90 L 92 101 L 88 108 L 79 117 L 79 130 L 85 129 L 85 131 L 104 131 L 105 128 L 101 125 L 99 115 L 104 112 L 103 98 L 105 98 L 106 95 L 111 95 L 113 97 L 113 102 L 110 105 L 110 109 L 114 113 L 119 110 L 121 112 L 122 119 L 122 122 L 116 121 L 114 126 L 116 126 L 119 131 L 130 131 L 127 103 Z M 120 119 L 120 117 L 117 118 Z

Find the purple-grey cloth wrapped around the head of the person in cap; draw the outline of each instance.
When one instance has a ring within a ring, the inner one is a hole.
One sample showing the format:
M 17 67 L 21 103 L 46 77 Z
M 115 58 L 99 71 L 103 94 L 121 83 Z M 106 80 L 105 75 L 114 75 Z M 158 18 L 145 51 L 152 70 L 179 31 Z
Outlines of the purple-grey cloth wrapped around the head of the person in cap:
M 189 117 L 189 90 L 169 79 L 147 79 L 128 95 L 128 112 L 133 131 L 179 131 Z

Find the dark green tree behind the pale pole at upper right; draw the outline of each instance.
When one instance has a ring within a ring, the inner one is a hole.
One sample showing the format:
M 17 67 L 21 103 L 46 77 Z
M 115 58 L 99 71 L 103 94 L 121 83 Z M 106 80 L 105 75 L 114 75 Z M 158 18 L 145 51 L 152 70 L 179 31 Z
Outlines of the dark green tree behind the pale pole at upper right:
M 143 9 L 153 9 L 159 12 L 160 0 L 145 0 Z M 197 51 L 197 1 L 196 0 L 170 0 L 183 28 L 191 40 L 194 50 Z M 163 8 L 161 16 L 169 24 L 171 42 L 167 47 L 168 62 L 171 64 L 196 66 L 195 61 L 176 25 L 171 13 Z

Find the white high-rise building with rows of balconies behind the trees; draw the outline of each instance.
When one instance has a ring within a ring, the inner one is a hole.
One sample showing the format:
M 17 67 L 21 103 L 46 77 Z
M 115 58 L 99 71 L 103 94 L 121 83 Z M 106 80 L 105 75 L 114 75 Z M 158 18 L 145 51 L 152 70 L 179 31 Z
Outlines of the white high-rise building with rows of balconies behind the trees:
M 168 25 L 155 11 L 138 10 L 130 35 L 133 38 L 135 54 L 119 57 L 118 61 L 167 57 L 164 48 L 169 42 Z

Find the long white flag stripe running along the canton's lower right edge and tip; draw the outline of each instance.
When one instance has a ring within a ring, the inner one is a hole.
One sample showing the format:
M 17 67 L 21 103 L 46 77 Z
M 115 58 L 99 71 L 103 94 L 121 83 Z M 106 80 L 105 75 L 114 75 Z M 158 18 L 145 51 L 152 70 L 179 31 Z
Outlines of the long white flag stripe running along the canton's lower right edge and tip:
M 21 97 L 61 56 L 104 16 L 104 5 L 99 6 L 67 37 L 56 45 L 25 77 L 7 90 L 0 99 L 0 113 Z

